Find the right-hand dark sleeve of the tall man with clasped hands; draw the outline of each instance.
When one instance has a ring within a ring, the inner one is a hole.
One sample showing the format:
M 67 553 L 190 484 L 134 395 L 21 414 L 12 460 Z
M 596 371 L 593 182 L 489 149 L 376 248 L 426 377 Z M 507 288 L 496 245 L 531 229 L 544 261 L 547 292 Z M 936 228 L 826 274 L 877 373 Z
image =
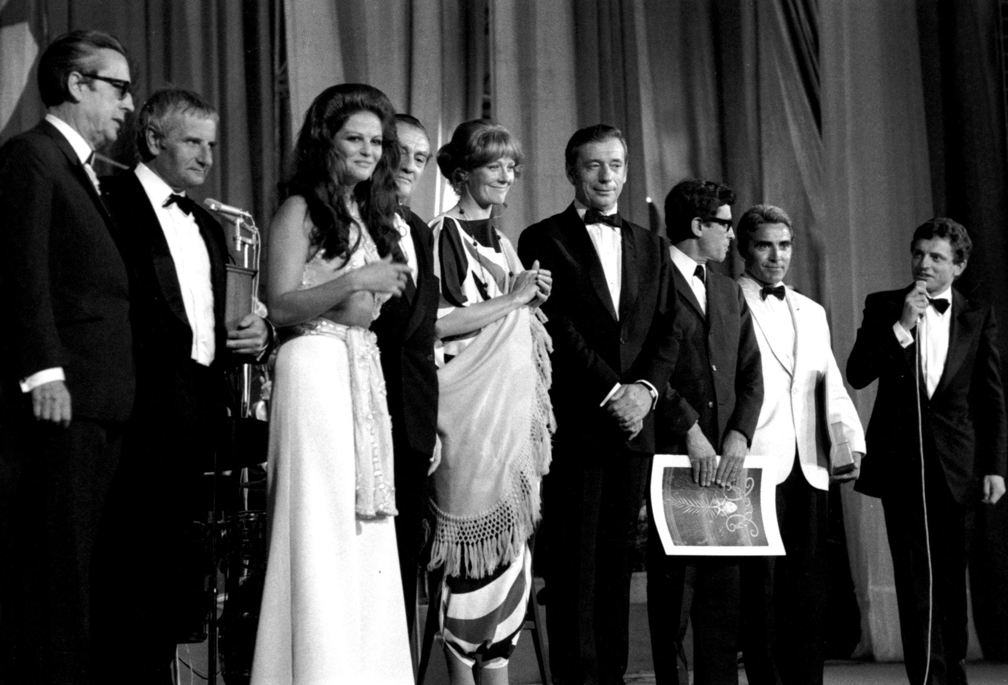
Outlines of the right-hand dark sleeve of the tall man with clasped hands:
M 626 373 L 630 381 L 644 380 L 659 393 L 668 383 L 678 357 L 679 335 L 675 330 L 675 304 L 678 295 L 672 282 L 672 262 L 668 255 L 668 241 L 658 238 L 660 268 L 658 278 L 658 305 L 655 307 L 651 327 L 640 355 Z

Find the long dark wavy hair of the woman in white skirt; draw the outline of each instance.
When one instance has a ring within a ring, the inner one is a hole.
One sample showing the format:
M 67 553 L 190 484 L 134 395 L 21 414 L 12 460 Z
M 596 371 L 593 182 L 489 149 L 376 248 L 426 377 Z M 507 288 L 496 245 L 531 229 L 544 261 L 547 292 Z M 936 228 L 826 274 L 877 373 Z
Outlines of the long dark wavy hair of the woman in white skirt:
M 358 112 L 372 112 L 381 121 L 382 154 L 371 178 L 354 188 L 354 198 L 380 255 L 391 252 L 399 240 L 394 224 L 399 207 L 394 176 L 399 166 L 399 139 L 392 103 L 367 84 L 333 86 L 319 94 L 304 115 L 294 144 L 293 171 L 279 186 L 281 201 L 291 195 L 304 197 L 314 225 L 311 245 L 321 249 L 326 259 L 349 257 L 360 244 L 358 240 L 350 245 L 353 220 L 343 198 L 333 144 L 343 125 Z

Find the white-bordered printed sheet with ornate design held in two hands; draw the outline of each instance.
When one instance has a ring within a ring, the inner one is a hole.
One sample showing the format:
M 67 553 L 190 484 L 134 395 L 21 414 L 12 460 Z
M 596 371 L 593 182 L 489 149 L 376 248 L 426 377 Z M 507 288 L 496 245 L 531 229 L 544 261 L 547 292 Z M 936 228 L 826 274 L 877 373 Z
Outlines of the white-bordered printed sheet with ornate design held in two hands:
M 747 456 L 741 486 L 703 488 L 692 481 L 688 456 L 655 454 L 651 510 L 665 554 L 783 554 L 773 474 L 771 459 Z

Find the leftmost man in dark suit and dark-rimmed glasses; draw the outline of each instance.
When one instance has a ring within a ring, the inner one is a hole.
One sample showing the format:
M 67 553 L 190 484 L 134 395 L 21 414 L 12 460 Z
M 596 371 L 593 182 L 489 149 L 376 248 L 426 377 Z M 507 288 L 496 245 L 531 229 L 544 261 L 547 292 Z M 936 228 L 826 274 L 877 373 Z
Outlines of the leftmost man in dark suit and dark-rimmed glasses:
M 74 31 L 47 113 L 0 148 L 0 682 L 91 683 L 95 543 L 133 407 L 129 282 L 94 151 L 133 110 L 125 49 Z

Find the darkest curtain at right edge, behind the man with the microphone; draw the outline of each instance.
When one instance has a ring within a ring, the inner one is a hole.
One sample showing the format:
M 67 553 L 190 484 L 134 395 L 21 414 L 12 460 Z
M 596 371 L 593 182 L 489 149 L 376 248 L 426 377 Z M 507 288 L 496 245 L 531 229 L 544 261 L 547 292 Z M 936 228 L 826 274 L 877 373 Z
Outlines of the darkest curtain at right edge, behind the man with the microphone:
M 1004 3 L 1002 3 L 1003 5 Z M 917 0 L 933 213 L 962 223 L 973 256 L 957 287 L 991 302 L 1008 359 L 1008 198 L 998 4 Z M 1008 28 L 1006 26 L 1005 28 Z M 970 581 L 987 659 L 1008 661 L 1008 503 L 976 514 Z

